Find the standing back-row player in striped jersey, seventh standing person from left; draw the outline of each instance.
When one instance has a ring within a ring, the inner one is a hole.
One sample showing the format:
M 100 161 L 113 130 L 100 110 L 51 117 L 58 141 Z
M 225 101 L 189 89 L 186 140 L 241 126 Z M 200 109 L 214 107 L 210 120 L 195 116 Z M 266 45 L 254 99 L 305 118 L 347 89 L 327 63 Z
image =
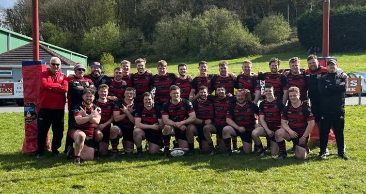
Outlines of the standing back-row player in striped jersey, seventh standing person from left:
M 155 104 L 162 106 L 166 101 L 170 99 L 169 88 L 175 84 L 175 74 L 167 72 L 167 63 L 164 60 L 160 60 L 157 65 L 158 74 L 154 75 L 151 79 L 151 86 L 155 87 Z

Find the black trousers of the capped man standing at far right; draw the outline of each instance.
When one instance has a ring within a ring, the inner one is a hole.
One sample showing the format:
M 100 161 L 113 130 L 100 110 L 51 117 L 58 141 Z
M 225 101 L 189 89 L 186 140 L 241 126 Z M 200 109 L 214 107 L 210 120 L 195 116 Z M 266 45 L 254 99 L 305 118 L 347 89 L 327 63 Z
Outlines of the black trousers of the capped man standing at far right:
M 332 126 L 338 154 L 344 153 L 344 113 L 321 113 L 320 124 L 320 153 L 327 148 L 328 136 Z

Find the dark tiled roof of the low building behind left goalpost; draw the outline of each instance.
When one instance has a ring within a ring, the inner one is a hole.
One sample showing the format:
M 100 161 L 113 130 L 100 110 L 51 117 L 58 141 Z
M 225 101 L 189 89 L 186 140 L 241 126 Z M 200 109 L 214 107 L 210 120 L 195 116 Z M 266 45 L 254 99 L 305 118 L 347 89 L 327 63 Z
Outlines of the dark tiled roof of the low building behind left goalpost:
M 33 44 L 28 43 L 24 46 L 18 47 L 16 49 L 9 50 L 5 53 L 0 54 L 0 65 L 6 66 L 17 66 L 21 65 L 22 61 L 33 60 Z M 61 60 L 61 65 L 63 67 L 69 66 L 70 68 L 74 68 L 75 62 L 70 59 L 54 52 L 51 49 L 48 49 L 46 46 L 39 44 L 39 59 L 42 61 L 46 61 L 47 64 L 51 57 L 58 57 Z

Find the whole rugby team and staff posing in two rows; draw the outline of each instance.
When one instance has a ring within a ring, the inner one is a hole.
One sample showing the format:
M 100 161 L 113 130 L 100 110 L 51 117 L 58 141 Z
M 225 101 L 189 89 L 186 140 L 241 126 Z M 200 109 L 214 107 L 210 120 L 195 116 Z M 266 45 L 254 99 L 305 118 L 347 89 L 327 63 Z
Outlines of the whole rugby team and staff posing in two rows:
M 95 157 L 157 154 L 166 158 L 196 152 L 212 157 L 245 157 L 254 152 L 284 160 L 286 144 L 293 145 L 295 158 L 304 159 L 317 125 L 317 159 L 330 154 L 327 144 L 333 127 L 337 155 L 348 160 L 343 134 L 347 74 L 337 73 L 333 59 L 326 66 L 319 65 L 313 54 L 307 57 L 306 67 L 300 61 L 271 58 L 268 69 L 253 72 L 255 64 L 244 60 L 242 71 L 235 73 L 221 61 L 215 74 L 208 74 L 207 62 L 200 61 L 199 75 L 193 77 L 186 64 L 174 69 L 170 65 L 168 71 L 164 60 L 157 63 L 158 73 L 153 75 L 140 58 L 132 64 L 122 61 L 112 76 L 102 73 L 99 62 L 89 64 L 88 75 L 87 68 L 77 63 L 75 73 L 66 77 L 60 71 L 61 60 L 52 57 L 50 68 L 39 77 L 36 157 L 44 157 L 52 126 L 52 154 L 58 157 L 63 151 L 76 165 Z

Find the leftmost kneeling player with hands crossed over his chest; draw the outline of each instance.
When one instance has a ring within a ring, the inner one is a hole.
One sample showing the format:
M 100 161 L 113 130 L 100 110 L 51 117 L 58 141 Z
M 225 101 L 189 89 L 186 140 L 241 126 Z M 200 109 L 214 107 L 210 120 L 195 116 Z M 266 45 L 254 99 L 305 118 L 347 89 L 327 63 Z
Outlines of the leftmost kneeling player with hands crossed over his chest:
M 83 90 L 83 101 L 74 108 L 74 126 L 68 131 L 68 135 L 75 141 L 75 148 L 70 146 L 67 156 L 73 155 L 76 165 L 80 165 L 80 158 L 85 161 L 94 159 L 94 127 L 101 118 L 101 109 L 93 104 L 94 94 L 94 89 Z

